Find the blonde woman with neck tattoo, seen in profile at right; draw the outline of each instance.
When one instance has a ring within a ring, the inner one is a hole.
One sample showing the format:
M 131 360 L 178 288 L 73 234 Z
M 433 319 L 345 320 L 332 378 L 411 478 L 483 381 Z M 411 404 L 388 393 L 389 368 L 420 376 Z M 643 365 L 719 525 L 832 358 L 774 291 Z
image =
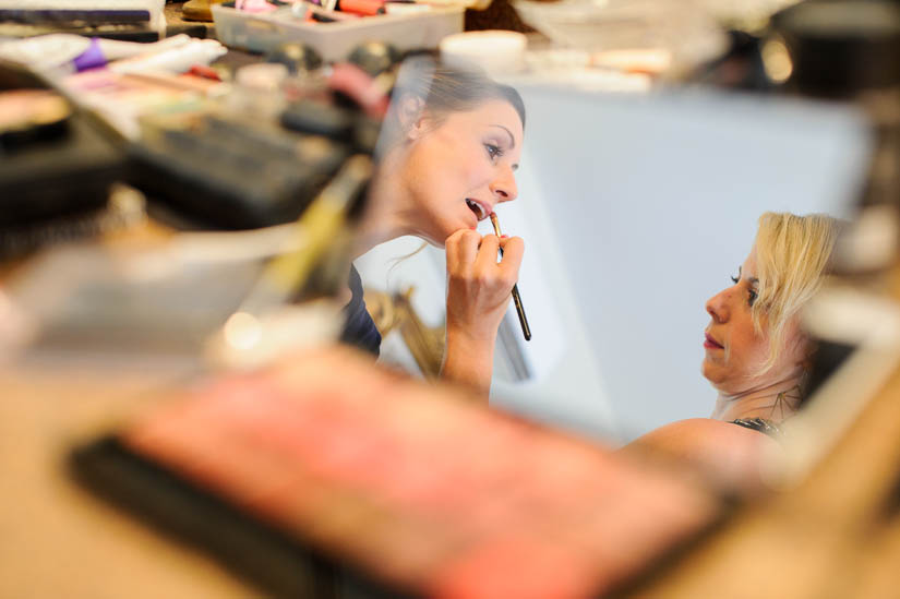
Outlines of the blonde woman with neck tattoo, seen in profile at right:
M 682 420 L 633 447 L 699 463 L 728 483 L 753 484 L 763 446 L 800 408 L 814 351 L 800 312 L 821 287 L 838 221 L 766 213 L 733 285 L 706 302 L 703 374 L 719 392 L 710 418 Z

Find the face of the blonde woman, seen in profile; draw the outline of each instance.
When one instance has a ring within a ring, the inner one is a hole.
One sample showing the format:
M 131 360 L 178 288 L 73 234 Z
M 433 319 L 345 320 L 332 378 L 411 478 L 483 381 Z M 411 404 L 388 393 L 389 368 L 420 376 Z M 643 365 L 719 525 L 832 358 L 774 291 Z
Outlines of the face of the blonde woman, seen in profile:
M 711 320 L 705 332 L 703 374 L 719 391 L 737 394 L 787 376 L 802 362 L 805 347 L 796 321 L 789 322 L 778 362 L 764 375 L 757 375 L 769 357 L 769 336 L 765 316 L 760 323 L 763 332 L 757 334 L 751 314 L 758 291 L 755 248 L 732 281 L 734 285 L 706 302 Z

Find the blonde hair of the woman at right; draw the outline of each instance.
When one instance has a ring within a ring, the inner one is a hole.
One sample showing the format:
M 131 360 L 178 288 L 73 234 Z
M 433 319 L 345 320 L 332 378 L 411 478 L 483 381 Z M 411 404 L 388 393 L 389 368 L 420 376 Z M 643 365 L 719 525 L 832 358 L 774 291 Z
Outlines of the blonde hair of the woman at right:
M 769 335 L 771 369 L 784 350 L 787 325 L 816 295 L 831 263 L 840 221 L 825 214 L 796 216 L 767 212 L 756 233 L 756 276 L 759 279 L 751 313 L 757 334 Z

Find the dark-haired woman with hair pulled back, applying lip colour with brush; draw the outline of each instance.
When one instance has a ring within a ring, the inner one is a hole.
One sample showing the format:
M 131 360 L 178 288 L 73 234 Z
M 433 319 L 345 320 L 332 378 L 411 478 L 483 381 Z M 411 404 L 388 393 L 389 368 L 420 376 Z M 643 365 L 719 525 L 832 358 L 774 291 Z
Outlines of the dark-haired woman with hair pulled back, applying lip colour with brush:
M 518 278 L 517 237 L 476 231 L 502 202 L 516 199 L 525 106 L 512 87 L 475 69 L 430 59 L 407 62 L 379 142 L 379 175 L 357 255 L 401 236 L 446 249 L 445 380 L 490 390 L 497 328 Z M 503 257 L 497 262 L 500 249 Z M 381 337 L 351 273 L 345 340 L 377 351 Z

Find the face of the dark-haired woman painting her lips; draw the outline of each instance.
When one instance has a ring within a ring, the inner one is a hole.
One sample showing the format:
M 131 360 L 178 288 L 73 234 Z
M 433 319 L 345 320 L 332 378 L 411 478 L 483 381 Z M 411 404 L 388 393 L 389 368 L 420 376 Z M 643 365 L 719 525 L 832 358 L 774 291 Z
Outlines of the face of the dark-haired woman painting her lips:
M 436 122 L 425 113 L 417 127 L 404 169 L 415 206 L 408 224 L 413 235 L 443 247 L 457 230 L 475 229 L 494 206 L 516 199 L 521 120 L 497 99 Z

